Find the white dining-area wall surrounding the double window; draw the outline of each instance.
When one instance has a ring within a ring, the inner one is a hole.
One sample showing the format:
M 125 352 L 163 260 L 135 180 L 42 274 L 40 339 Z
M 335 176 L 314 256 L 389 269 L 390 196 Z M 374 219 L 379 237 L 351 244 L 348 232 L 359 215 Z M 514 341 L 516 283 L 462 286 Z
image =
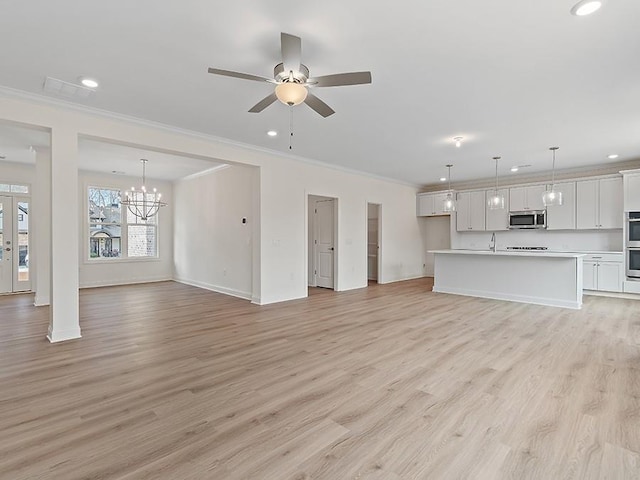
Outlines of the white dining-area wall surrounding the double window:
M 128 283 L 154 282 L 173 278 L 173 186 L 170 182 L 147 179 L 149 187 L 162 193 L 168 205 L 158 213 L 158 259 L 89 259 L 89 186 L 111 187 L 122 191 L 140 185 L 140 177 L 80 171 L 78 174 L 80 287 L 100 287 Z

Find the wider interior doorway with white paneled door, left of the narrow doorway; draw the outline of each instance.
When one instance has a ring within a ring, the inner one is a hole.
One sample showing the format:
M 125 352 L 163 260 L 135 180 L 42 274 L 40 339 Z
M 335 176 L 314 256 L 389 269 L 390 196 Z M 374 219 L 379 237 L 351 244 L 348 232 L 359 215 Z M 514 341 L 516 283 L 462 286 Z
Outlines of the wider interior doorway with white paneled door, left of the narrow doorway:
M 338 199 L 309 195 L 308 200 L 308 285 L 336 290 Z

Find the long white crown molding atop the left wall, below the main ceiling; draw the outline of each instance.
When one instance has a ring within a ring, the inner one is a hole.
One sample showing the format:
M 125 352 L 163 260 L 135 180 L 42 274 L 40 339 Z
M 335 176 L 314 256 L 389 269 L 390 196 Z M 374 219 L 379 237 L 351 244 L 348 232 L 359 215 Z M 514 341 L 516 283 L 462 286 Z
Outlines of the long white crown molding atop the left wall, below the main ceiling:
M 405 182 L 405 181 L 399 180 L 397 178 L 384 177 L 382 175 L 376 175 L 376 174 L 370 173 L 370 172 L 364 172 L 364 171 L 356 170 L 356 169 L 353 169 L 353 168 L 342 167 L 340 165 L 335 165 L 335 164 L 323 162 L 323 161 L 320 161 L 320 160 L 313 160 L 311 158 L 302 157 L 302 156 L 299 156 L 299 155 L 294 155 L 294 154 L 291 154 L 291 153 L 288 153 L 288 152 L 281 152 L 279 150 L 272 150 L 272 149 L 265 148 L 265 147 L 259 147 L 259 146 L 251 145 L 251 144 L 248 144 L 248 143 L 238 142 L 238 141 L 231 140 L 231 139 L 224 138 L 224 137 L 217 137 L 215 135 L 202 133 L 202 132 L 198 132 L 198 131 L 195 131 L 195 130 L 188 130 L 188 129 L 183 129 L 183 128 L 176 127 L 176 126 L 173 126 L 173 125 L 168 125 L 168 124 L 165 124 L 165 123 L 155 122 L 153 120 L 145 120 L 143 118 L 134 117 L 134 116 L 130 116 L 130 115 L 125 115 L 125 114 L 121 114 L 121 113 L 116 113 L 116 112 L 112 112 L 112 111 L 109 111 L 109 110 L 99 109 L 99 108 L 95 108 L 95 107 L 89 107 L 89 106 L 86 106 L 86 105 L 80 105 L 80 104 L 69 102 L 69 101 L 66 101 L 66 100 L 47 97 L 47 96 L 44 96 L 44 95 L 39 95 L 39 94 L 36 94 L 36 93 L 26 92 L 24 90 L 19 90 L 19 89 L 16 89 L 16 88 L 6 87 L 6 86 L 3 86 L 3 85 L 0 85 L 0 96 L 1 97 L 5 97 L 5 98 L 9 98 L 9 99 L 22 100 L 22 101 L 34 103 L 36 105 L 43 105 L 43 106 L 49 106 L 49 107 L 54 107 L 54 108 L 58 108 L 58 109 L 63 109 L 63 110 L 69 111 L 69 112 L 82 113 L 82 114 L 86 114 L 86 115 L 92 115 L 92 116 L 105 118 L 105 119 L 108 119 L 108 120 L 115 120 L 115 121 L 118 121 L 118 122 L 129 123 L 129 124 L 136 125 L 136 126 L 152 128 L 152 129 L 155 129 L 155 130 L 162 130 L 164 132 L 183 135 L 183 136 L 195 138 L 195 139 L 198 139 L 198 140 L 206 140 L 208 142 L 221 143 L 223 145 L 233 146 L 233 147 L 236 147 L 236 148 L 241 148 L 241 149 L 245 149 L 245 150 L 256 152 L 256 153 L 273 155 L 273 156 L 282 157 L 282 158 L 285 158 L 285 159 L 288 159 L 288 160 L 294 160 L 294 161 L 297 161 L 297 162 L 305 163 L 307 165 L 313 165 L 315 167 L 328 168 L 330 170 L 336 170 L 336 171 L 339 171 L 339 172 L 342 172 L 342 173 L 348 173 L 348 174 L 351 174 L 351 175 L 357 175 L 357 176 L 372 178 L 374 180 L 380 180 L 380 181 L 383 181 L 383 182 L 395 183 L 395 184 L 398 184 L 398 185 L 403 185 L 403 186 L 411 187 L 411 188 L 415 188 L 415 189 L 419 189 L 421 187 L 420 184 L 412 183 L 412 182 Z M 185 156 L 191 156 L 192 157 L 193 155 L 185 154 Z M 211 158 L 209 158 L 209 159 L 211 159 Z M 223 160 L 223 159 L 215 159 L 215 160 L 219 160 L 220 162 L 226 162 L 227 161 L 227 160 Z M 242 162 L 237 162 L 237 163 L 242 163 Z

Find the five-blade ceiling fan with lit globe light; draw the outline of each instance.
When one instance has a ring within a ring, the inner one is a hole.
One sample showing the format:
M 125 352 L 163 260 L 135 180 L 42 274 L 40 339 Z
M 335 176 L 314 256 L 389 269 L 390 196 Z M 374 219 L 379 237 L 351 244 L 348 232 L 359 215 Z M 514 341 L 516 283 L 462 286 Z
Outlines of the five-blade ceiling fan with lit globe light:
M 311 93 L 308 87 L 339 87 L 371 83 L 371 72 L 336 73 L 321 77 L 309 77 L 309 68 L 301 63 L 302 40 L 300 37 L 281 33 L 280 45 L 282 63 L 273 69 L 273 79 L 219 68 L 209 68 L 209 73 L 275 84 L 275 91 L 256 103 L 249 110 L 251 113 L 260 113 L 276 100 L 280 100 L 290 106 L 304 102 L 323 117 L 328 117 L 333 115 L 335 111 Z

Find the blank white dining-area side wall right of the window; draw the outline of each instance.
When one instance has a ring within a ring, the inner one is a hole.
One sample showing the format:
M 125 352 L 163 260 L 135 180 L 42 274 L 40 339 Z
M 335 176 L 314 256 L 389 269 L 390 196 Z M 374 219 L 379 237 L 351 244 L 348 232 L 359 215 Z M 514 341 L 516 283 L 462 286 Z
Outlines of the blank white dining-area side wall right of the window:
M 252 298 L 256 175 L 234 165 L 175 183 L 176 280 Z

